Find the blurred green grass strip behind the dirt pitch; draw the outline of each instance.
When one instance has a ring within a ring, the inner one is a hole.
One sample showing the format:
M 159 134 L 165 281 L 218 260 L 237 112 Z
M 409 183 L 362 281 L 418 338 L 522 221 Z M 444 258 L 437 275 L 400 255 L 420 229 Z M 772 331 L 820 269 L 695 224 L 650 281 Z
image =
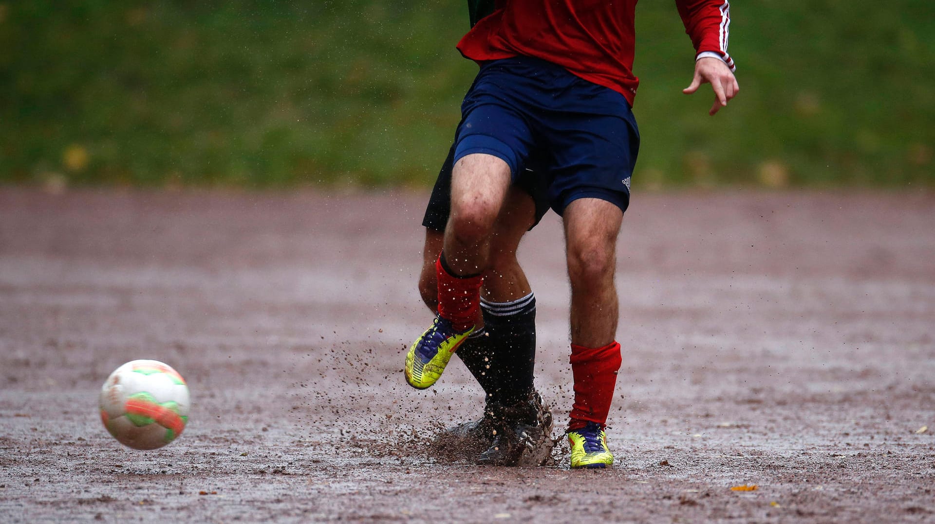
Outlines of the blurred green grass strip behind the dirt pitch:
M 935 3 L 732 7 L 714 118 L 674 3 L 637 7 L 637 187 L 935 185 Z M 0 183 L 427 185 L 467 29 L 463 0 L 0 3 Z

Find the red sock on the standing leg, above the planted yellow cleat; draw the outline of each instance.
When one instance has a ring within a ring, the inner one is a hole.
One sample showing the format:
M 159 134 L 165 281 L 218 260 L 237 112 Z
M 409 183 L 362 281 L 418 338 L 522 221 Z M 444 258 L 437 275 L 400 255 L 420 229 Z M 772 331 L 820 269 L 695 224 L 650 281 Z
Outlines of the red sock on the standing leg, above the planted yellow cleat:
M 604 347 L 571 345 L 571 375 L 575 380 L 575 403 L 571 408 L 568 429 L 580 430 L 588 421 L 603 428 L 611 412 L 613 387 L 620 369 L 620 344 Z

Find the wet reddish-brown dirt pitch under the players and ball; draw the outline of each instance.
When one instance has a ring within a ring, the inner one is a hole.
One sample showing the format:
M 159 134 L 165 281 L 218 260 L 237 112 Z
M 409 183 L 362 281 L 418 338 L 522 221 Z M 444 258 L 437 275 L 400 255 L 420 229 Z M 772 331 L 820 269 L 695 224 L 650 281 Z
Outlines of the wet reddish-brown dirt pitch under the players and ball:
M 401 373 L 424 200 L 0 190 L 0 521 L 935 521 L 935 197 L 637 195 L 617 462 L 584 472 L 430 451 L 482 399 Z M 520 255 L 564 423 L 560 245 L 550 216 Z M 96 413 L 139 358 L 194 402 L 151 452 Z

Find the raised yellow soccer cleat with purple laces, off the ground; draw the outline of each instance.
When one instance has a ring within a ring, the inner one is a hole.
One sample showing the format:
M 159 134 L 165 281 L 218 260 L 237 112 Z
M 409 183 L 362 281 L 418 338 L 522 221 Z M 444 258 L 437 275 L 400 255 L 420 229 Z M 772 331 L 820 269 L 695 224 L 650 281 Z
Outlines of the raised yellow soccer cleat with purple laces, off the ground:
M 431 327 L 415 339 L 406 353 L 406 365 L 403 367 L 406 381 L 415 389 L 435 384 L 448 361 L 452 360 L 454 350 L 473 332 L 473 327 L 465 332 L 455 331 L 450 321 L 436 317 Z

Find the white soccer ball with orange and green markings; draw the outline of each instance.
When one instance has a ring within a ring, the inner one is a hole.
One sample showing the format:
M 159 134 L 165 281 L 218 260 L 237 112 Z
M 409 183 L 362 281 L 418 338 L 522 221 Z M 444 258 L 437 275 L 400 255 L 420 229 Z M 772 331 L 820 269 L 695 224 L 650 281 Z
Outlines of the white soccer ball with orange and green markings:
M 178 437 L 188 421 L 185 379 L 160 361 L 130 361 L 101 389 L 101 421 L 124 446 L 155 449 Z

